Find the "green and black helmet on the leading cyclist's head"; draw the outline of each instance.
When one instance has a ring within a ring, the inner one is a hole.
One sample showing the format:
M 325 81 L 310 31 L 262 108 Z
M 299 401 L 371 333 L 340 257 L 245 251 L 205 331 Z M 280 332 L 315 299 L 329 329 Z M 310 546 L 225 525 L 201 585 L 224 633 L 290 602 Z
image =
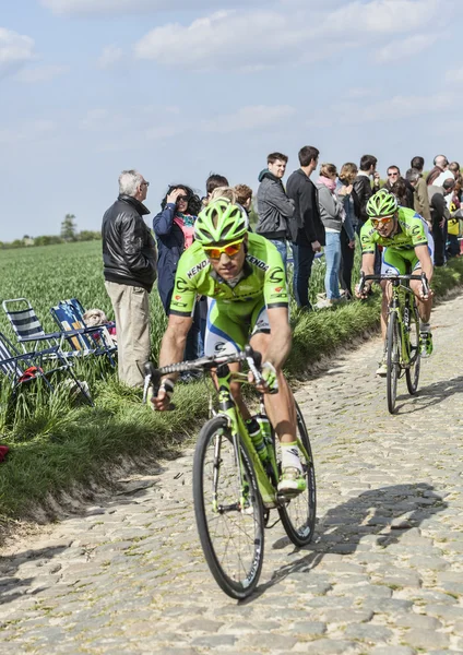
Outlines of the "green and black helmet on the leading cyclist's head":
M 194 238 L 202 246 L 235 241 L 248 231 L 245 211 L 225 198 L 211 202 L 194 223 Z

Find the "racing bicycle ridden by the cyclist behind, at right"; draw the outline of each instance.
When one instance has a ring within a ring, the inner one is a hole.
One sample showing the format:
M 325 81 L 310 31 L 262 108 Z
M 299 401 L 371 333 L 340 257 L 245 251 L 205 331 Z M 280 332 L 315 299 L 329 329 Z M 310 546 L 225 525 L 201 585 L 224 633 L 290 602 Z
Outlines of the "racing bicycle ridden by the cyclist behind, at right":
M 423 295 L 429 295 L 428 281 L 422 275 L 360 275 L 358 293 L 361 294 L 367 281 L 388 281 L 392 284 L 392 295 L 388 308 L 387 353 L 387 395 L 390 414 L 395 412 L 397 380 L 405 373 L 408 393 L 418 391 L 420 369 L 419 314 L 416 297 L 409 287 L 411 279 L 423 285 Z M 403 293 L 401 293 L 401 290 Z

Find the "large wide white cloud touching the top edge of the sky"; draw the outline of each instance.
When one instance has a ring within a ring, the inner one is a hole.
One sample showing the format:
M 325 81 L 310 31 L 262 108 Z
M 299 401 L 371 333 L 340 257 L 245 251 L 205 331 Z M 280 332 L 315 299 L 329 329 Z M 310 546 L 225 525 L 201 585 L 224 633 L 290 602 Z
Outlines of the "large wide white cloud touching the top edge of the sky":
M 419 29 L 425 38 L 426 28 L 435 32 L 439 17 L 439 0 L 355 0 L 340 8 L 342 1 L 334 9 L 333 2 L 296 2 L 294 11 L 285 5 L 280 11 L 217 11 L 187 25 L 169 23 L 145 34 L 134 45 L 134 56 L 183 69 L 254 72 L 328 59 L 345 48 L 378 46 L 391 34 Z

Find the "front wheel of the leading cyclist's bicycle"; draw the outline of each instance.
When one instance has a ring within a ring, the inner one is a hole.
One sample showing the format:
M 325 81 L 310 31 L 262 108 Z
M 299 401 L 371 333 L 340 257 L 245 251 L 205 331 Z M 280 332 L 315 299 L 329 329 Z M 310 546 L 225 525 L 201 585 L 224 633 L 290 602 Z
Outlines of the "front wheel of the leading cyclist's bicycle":
M 218 451 L 215 449 L 218 446 Z M 218 452 L 218 456 L 216 456 Z M 216 416 L 202 428 L 193 460 L 193 499 L 205 560 L 218 586 L 238 600 L 252 594 L 262 570 L 264 522 L 256 473 L 240 443 L 242 478 L 248 484 L 246 511 L 240 509 L 238 457 L 227 419 Z M 213 508 L 214 475 L 217 505 Z M 230 509 L 236 505 L 235 509 Z M 225 508 L 225 509 L 224 509 Z

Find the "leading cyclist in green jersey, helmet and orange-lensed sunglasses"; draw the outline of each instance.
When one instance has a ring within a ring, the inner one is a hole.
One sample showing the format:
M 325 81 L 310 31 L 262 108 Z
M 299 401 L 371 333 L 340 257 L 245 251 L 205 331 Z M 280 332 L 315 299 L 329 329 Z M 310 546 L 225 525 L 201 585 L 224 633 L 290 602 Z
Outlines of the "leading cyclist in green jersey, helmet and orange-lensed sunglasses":
M 248 342 L 262 353 L 264 382 L 257 389 L 265 394 L 265 409 L 282 448 L 278 491 L 305 491 L 295 403 L 282 371 L 292 346 L 283 260 L 273 243 L 248 231 L 242 207 L 223 198 L 199 214 L 194 237 L 178 263 L 159 367 L 182 360 L 197 296 L 207 296 L 205 355 L 237 353 Z M 230 365 L 232 370 L 238 367 Z M 251 373 L 249 379 L 253 381 Z M 173 374 L 162 379 L 157 397 L 153 398 L 156 409 L 168 408 L 174 382 Z M 277 393 L 269 393 L 276 386 Z M 242 401 L 240 385 L 232 384 L 232 393 L 251 432 L 256 420 Z

